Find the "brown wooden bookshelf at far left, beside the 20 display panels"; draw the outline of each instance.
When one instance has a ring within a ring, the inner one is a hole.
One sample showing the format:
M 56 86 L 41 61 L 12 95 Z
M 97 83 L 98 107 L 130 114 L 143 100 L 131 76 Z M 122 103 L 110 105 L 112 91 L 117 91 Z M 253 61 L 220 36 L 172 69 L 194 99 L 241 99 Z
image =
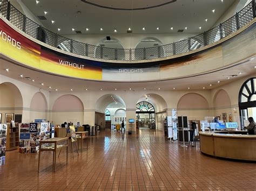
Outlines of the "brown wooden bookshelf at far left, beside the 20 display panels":
M 12 127 L 10 123 L 7 124 L 6 132 L 6 151 L 12 151 L 19 147 L 19 127 Z

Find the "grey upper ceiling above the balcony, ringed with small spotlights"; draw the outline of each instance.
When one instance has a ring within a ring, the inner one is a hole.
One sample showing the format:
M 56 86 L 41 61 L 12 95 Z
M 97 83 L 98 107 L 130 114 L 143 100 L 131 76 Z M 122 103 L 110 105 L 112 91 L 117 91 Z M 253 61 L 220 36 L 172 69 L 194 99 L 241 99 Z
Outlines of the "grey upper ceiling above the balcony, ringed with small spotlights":
M 235 0 L 177 0 L 163 6 L 144 10 L 113 10 L 80 0 L 21 0 L 35 16 L 45 16 L 42 24 L 60 34 L 124 34 L 129 27 L 133 33 L 201 33 L 210 29 Z M 148 8 L 170 0 L 87 0 L 109 8 Z M 215 10 L 213 13 L 212 10 Z M 47 11 L 46 15 L 44 11 Z M 205 19 L 208 19 L 205 22 Z M 55 23 L 51 23 L 54 20 Z M 201 26 L 201 30 L 199 27 Z M 145 30 L 142 30 L 145 27 Z M 159 30 L 157 30 L 159 27 Z M 173 27 L 173 30 L 170 28 Z M 72 31 L 72 28 L 75 31 Z M 86 28 L 89 29 L 86 31 Z M 100 31 L 100 28 L 103 30 Z

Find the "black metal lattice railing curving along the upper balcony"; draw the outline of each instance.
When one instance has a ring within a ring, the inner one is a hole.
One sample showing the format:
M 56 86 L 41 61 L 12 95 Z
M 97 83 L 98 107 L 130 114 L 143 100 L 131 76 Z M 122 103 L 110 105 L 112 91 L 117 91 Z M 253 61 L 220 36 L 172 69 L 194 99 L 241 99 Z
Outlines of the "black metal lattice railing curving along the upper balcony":
M 0 10 L 2 16 L 18 27 L 18 29 L 50 46 L 90 58 L 131 61 L 164 58 L 166 56 L 181 54 L 212 44 L 215 41 L 227 37 L 255 18 L 255 1 L 256 0 L 252 0 L 244 9 L 237 12 L 233 17 L 227 19 L 225 22 L 213 27 L 213 29 L 198 34 L 197 36 L 167 45 L 135 49 L 107 48 L 89 45 L 87 43 L 81 43 L 76 40 L 60 36 L 59 34 L 49 31 L 41 25 L 33 22 L 31 19 L 23 15 L 23 13 L 19 12 L 7 0 L 2 1 Z

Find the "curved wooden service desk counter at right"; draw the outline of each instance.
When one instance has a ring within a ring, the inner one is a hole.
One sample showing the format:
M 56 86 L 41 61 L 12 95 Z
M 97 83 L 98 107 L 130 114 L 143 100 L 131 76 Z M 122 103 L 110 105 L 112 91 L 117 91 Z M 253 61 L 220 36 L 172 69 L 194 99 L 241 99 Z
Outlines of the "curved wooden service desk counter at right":
M 227 159 L 256 161 L 256 135 L 199 132 L 199 136 L 202 153 Z

